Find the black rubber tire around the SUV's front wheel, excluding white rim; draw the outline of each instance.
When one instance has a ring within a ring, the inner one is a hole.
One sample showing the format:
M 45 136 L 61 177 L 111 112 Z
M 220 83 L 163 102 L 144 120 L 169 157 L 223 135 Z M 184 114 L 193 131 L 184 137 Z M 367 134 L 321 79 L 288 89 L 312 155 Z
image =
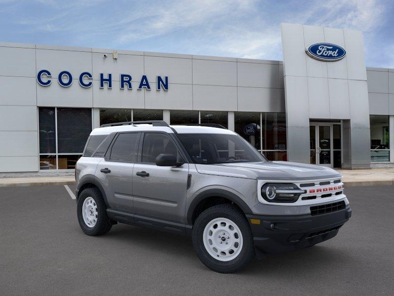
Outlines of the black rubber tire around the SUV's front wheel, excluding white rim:
M 234 222 L 242 234 L 242 249 L 238 256 L 230 261 L 220 261 L 213 258 L 205 249 L 203 242 L 203 232 L 205 226 L 215 218 L 227 218 Z M 202 212 L 193 225 L 192 230 L 193 246 L 201 262 L 220 273 L 231 273 L 245 267 L 254 257 L 255 249 L 253 234 L 245 215 L 231 204 L 213 206 Z

